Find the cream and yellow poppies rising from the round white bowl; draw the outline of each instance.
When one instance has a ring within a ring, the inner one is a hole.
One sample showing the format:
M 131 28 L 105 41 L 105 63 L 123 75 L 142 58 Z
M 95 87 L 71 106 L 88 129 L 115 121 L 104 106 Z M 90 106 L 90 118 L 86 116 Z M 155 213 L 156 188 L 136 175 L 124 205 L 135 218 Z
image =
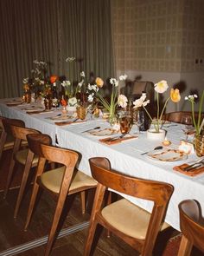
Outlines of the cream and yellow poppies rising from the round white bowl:
M 159 133 L 159 128 L 160 128 L 160 124 L 162 121 L 163 112 L 167 106 L 167 103 L 169 102 L 169 99 L 171 99 L 172 102 L 180 102 L 180 100 L 181 100 L 181 95 L 180 95 L 179 89 L 170 89 L 170 95 L 164 102 L 162 111 L 160 111 L 159 95 L 163 94 L 165 91 L 167 91 L 168 88 L 169 88 L 168 83 L 165 80 L 162 80 L 155 84 L 157 111 L 156 111 L 156 119 L 154 119 L 154 121 L 153 121 L 153 118 L 150 116 L 147 108 L 145 108 L 147 106 L 147 104 L 150 103 L 150 100 L 146 100 L 145 93 L 143 93 L 142 96 L 139 99 L 137 99 L 135 102 L 133 102 L 134 108 L 143 107 L 143 109 L 146 111 L 147 115 L 150 117 L 150 120 L 152 121 L 152 123 L 155 127 L 156 133 Z

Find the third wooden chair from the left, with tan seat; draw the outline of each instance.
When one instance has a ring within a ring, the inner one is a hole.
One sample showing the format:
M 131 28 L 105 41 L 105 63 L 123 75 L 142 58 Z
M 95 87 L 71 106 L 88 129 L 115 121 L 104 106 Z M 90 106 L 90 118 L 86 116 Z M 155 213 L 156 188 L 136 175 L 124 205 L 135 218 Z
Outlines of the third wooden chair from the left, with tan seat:
M 45 252 L 45 255 L 49 255 L 67 195 L 85 192 L 87 189 L 96 187 L 97 182 L 94 181 L 92 177 L 83 174 L 75 168 L 78 161 L 78 154 L 76 152 L 65 148 L 55 148 L 53 146 L 44 145 L 40 140 L 37 140 L 37 137 L 37 135 L 27 136 L 29 148 L 35 154 L 39 155 L 39 163 L 29 204 L 25 230 L 27 230 L 29 226 L 29 221 L 35 206 L 36 195 L 39 187 L 41 187 L 47 190 L 49 194 L 52 194 L 57 201 Z M 46 160 L 54 161 L 63 166 L 44 172 Z

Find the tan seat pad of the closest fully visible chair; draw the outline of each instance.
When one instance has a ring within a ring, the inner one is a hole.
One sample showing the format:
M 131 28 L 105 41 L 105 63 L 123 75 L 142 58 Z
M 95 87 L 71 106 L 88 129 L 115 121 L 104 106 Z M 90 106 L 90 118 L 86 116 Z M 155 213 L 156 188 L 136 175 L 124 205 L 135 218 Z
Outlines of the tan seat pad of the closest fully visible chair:
M 120 232 L 136 239 L 145 240 L 150 213 L 132 204 L 129 200 L 118 200 L 103 208 L 101 214 L 109 224 Z M 167 227 L 169 224 L 164 222 L 161 230 Z

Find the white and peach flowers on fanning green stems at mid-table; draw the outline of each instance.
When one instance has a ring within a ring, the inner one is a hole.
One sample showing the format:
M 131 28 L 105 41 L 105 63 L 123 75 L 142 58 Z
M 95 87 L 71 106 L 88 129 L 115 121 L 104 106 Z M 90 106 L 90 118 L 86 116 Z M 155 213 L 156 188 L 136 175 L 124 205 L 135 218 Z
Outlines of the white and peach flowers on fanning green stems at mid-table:
M 127 75 L 120 75 L 119 81 L 124 81 L 126 80 L 126 78 Z M 112 95 L 110 102 L 108 102 L 99 91 L 99 89 L 103 88 L 104 86 L 104 81 L 100 77 L 96 78 L 96 84 L 88 85 L 88 90 L 90 92 L 90 94 L 88 95 L 88 101 L 92 102 L 94 96 L 96 96 L 99 102 L 103 105 L 103 107 L 110 113 L 110 118 L 112 118 L 113 115 L 115 115 L 116 108 L 118 106 L 121 108 L 125 108 L 128 102 L 128 99 L 125 95 L 118 95 L 119 81 L 116 78 L 110 79 L 110 83 L 112 85 Z

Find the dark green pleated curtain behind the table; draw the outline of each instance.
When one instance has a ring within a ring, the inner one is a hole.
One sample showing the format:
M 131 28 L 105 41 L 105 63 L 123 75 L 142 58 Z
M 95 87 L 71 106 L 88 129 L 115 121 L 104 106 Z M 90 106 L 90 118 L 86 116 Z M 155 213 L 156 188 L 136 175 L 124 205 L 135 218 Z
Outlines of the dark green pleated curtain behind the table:
M 65 59 L 80 71 L 114 75 L 110 0 L 1 0 L 0 97 L 22 95 L 22 78 L 35 59 L 48 62 L 48 75 L 66 75 Z

